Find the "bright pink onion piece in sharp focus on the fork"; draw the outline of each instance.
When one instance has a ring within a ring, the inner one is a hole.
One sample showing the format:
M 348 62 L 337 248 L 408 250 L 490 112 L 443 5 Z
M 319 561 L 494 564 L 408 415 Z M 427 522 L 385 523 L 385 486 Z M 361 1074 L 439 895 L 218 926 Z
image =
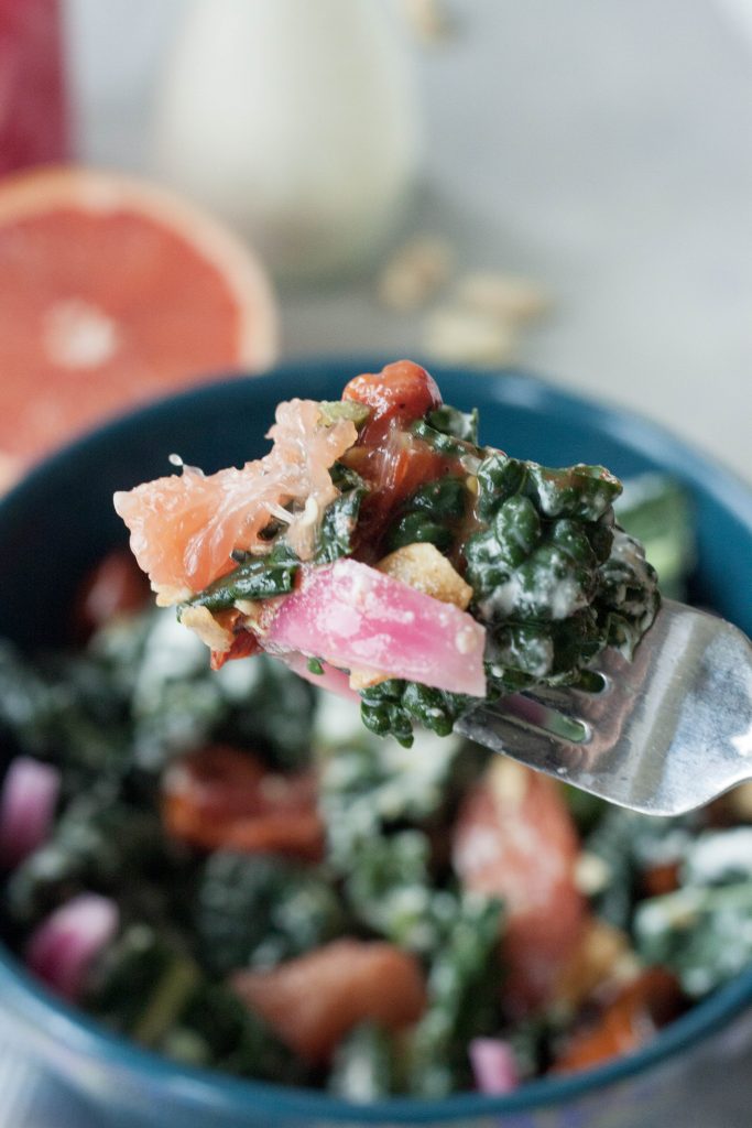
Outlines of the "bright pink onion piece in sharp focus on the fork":
M 347 670 L 486 694 L 485 628 L 452 603 L 353 559 L 307 569 L 259 642 L 275 654 L 300 651 Z

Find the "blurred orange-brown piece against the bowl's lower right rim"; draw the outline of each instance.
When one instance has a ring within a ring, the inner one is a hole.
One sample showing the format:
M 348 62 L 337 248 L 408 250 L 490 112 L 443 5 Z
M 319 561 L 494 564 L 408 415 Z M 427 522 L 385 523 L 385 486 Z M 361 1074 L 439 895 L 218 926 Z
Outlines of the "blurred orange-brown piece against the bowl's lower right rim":
M 682 1010 L 683 998 L 676 978 L 663 968 L 648 968 L 621 988 L 594 1025 L 573 1036 L 555 1061 L 554 1072 L 589 1069 L 610 1058 L 631 1054 Z

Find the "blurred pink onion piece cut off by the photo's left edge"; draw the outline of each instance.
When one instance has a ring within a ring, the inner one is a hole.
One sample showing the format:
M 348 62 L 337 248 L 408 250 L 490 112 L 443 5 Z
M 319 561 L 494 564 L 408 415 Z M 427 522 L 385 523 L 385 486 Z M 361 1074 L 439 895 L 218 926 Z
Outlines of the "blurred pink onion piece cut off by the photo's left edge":
M 11 763 L 0 796 L 0 866 L 12 869 L 48 838 L 60 782 L 50 764 L 28 756 Z

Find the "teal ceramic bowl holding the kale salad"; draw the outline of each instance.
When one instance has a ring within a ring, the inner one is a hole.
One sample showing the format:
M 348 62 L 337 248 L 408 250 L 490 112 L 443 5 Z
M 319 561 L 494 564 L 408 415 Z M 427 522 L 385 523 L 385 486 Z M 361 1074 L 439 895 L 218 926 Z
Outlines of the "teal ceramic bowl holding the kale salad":
M 112 508 L 115 490 L 166 473 L 172 451 L 210 472 L 256 457 L 265 449 L 277 400 L 335 398 L 352 376 L 381 363 L 372 356 L 317 360 L 264 377 L 212 382 L 120 418 L 48 459 L 0 501 L 0 635 L 25 647 L 62 637 L 60 608 L 89 566 L 124 541 Z M 554 465 L 603 462 L 622 477 L 661 469 L 681 478 L 695 502 L 699 534 L 692 596 L 752 634 L 752 493 L 740 482 L 653 424 L 529 376 L 433 371 L 448 403 L 480 409 L 481 440 L 511 453 Z M 537 1081 L 504 1098 L 466 1093 L 365 1108 L 178 1068 L 54 999 L 1 944 L 0 1010 L 0 1033 L 11 1032 L 19 1059 L 61 1086 L 55 1118 L 61 1128 L 749 1123 L 740 1086 L 752 1052 L 752 969 L 640 1052 L 599 1069 Z M 64 1091 L 85 1110 L 68 1121 Z M 0 1093 L 0 1113 L 1 1103 Z

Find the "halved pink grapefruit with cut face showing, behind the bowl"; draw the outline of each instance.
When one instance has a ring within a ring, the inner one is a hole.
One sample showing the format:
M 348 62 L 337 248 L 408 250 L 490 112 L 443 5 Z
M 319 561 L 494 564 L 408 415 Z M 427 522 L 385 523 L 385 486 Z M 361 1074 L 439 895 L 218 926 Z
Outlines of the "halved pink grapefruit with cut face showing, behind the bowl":
M 124 406 L 276 355 L 266 273 L 153 185 L 55 167 L 0 186 L 0 459 L 19 465 Z

